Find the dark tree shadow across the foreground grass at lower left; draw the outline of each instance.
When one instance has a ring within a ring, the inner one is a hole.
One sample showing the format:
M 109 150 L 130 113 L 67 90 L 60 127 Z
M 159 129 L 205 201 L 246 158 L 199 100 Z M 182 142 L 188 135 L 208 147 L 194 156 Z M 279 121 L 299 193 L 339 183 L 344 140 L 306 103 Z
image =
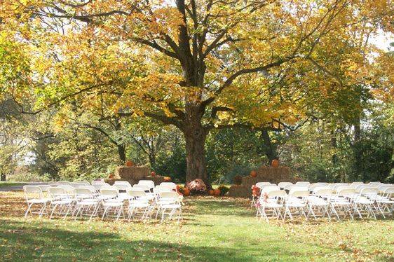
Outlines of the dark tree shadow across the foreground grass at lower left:
M 23 223 L 1 219 L 1 261 L 292 261 L 307 260 L 298 249 L 284 250 L 282 240 L 266 242 L 264 249 L 206 246 L 190 242 L 176 232 L 125 237 L 96 230 L 77 231 L 47 223 Z M 72 226 L 70 223 L 69 226 Z M 86 224 L 88 227 L 89 224 Z M 133 230 L 131 228 L 130 230 Z M 170 231 L 170 230 L 169 230 Z M 242 241 L 242 240 L 240 240 Z M 282 248 L 282 249 L 281 249 Z M 331 250 L 338 251 L 338 250 Z

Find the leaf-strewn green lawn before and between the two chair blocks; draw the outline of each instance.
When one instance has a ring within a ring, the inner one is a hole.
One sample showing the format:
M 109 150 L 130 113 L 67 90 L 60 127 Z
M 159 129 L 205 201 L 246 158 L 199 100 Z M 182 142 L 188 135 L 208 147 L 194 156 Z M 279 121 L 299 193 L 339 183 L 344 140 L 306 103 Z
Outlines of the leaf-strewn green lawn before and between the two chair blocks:
M 0 261 L 393 261 L 394 221 L 272 221 L 247 200 L 186 198 L 184 221 L 23 219 L 0 193 Z

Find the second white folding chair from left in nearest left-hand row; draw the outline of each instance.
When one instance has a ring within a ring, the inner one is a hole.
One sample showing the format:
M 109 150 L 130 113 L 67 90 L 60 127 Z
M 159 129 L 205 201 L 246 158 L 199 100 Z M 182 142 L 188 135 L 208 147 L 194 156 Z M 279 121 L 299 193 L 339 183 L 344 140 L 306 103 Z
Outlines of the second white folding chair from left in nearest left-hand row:
M 61 215 L 63 219 L 66 219 L 67 215 L 72 215 L 74 199 L 69 198 L 69 194 L 64 188 L 51 187 L 48 188 L 48 193 L 50 196 L 50 207 L 52 208 L 49 219 L 52 219 L 53 214 Z

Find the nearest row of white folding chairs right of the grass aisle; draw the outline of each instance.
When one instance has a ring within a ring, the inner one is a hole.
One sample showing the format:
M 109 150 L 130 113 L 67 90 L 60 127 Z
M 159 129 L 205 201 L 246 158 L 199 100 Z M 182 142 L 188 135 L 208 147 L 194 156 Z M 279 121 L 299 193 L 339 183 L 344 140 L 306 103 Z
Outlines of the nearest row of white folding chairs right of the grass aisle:
M 360 193 L 356 193 L 354 188 L 341 188 L 337 194 L 331 188 L 320 188 L 310 195 L 307 188 L 292 188 L 287 195 L 285 191 L 276 187 L 266 187 L 261 191 L 261 196 L 257 203 L 257 216 L 268 221 L 266 209 L 270 209 L 272 216 L 276 218 L 288 215 L 292 219 L 292 211 L 297 211 L 304 215 L 306 219 L 310 215 L 313 217 L 332 215 L 340 220 L 339 212 L 348 214 L 351 219 L 358 214 L 362 219 L 362 212 L 367 217 L 381 214 L 385 217 L 385 212 L 393 214 L 394 209 L 394 187 L 386 188 L 383 195 L 379 195 L 377 188 L 363 188 Z M 352 212 L 353 211 L 353 212 Z M 306 214 L 306 212 L 308 214 Z

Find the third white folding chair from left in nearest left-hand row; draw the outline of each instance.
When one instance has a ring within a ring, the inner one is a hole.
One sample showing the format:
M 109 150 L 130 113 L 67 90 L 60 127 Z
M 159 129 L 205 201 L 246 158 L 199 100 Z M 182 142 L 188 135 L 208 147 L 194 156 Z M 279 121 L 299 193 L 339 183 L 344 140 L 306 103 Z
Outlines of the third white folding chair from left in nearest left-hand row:
M 89 221 L 93 216 L 97 216 L 100 207 L 100 200 L 95 198 L 95 193 L 90 188 L 75 188 L 74 195 L 77 199 L 74 217 L 89 216 Z

